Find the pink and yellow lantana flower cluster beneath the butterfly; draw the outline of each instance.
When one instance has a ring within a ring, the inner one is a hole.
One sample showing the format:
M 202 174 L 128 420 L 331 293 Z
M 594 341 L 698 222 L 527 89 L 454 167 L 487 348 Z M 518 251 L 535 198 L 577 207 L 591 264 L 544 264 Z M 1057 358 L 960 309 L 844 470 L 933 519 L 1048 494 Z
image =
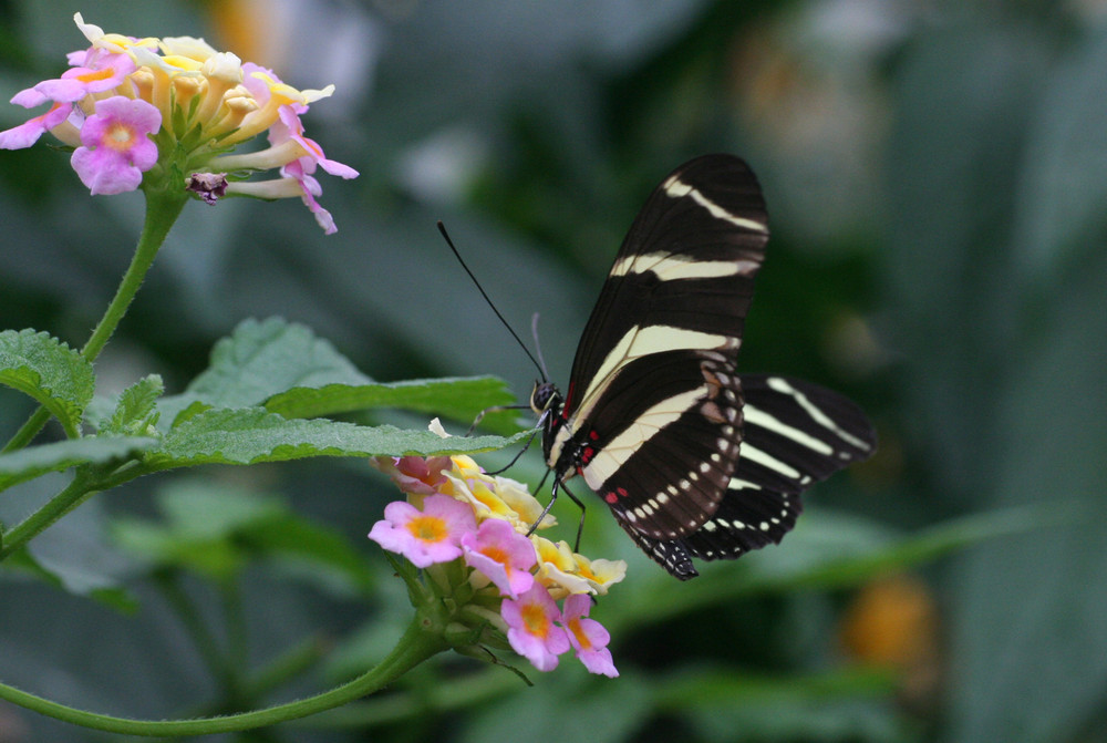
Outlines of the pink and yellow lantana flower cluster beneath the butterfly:
M 382 457 L 377 467 L 407 499 L 389 504 L 369 537 L 423 568 L 459 606 L 462 623 L 506 636 L 539 671 L 554 670 L 572 649 L 592 673 L 619 675 L 610 636 L 588 613 L 592 596 L 623 579 L 625 563 L 590 560 L 565 541 L 528 536 L 541 504 L 468 456 Z M 554 524 L 547 515 L 538 528 Z M 482 643 L 494 644 L 488 639 Z

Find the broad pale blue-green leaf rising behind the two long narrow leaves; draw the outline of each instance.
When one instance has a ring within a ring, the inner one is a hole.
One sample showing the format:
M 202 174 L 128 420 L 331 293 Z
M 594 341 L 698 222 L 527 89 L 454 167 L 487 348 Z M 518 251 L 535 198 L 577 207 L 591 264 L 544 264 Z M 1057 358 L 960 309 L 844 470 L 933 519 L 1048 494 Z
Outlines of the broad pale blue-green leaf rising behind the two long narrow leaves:
M 166 423 L 196 401 L 213 407 L 260 405 L 291 388 L 366 384 L 362 374 L 311 329 L 280 318 L 246 320 L 211 350 L 210 367 L 184 393 L 158 403 Z

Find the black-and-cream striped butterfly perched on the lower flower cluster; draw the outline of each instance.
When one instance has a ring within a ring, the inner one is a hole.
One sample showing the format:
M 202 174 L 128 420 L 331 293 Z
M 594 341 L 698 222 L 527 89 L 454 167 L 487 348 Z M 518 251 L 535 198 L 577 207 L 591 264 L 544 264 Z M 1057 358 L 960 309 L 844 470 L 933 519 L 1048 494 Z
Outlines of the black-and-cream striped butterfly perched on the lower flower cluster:
M 735 372 L 768 241 L 757 178 L 732 155 L 681 165 L 631 225 L 565 398 L 535 385 L 554 497 L 581 475 L 669 572 L 778 543 L 799 493 L 868 457 L 860 409 L 809 382 Z

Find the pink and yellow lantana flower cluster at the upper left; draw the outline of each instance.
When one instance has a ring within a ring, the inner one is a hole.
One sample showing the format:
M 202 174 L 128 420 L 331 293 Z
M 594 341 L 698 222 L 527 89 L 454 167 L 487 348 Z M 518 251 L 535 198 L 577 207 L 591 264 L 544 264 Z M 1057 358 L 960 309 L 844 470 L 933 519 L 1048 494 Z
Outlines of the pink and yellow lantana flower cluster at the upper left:
M 358 172 L 328 159 L 304 136 L 300 116 L 331 95 L 299 91 L 271 71 L 192 37 L 135 39 L 74 17 L 91 43 L 71 52 L 61 78 L 20 91 L 11 102 L 45 113 L 0 132 L 0 148 L 19 149 L 50 132 L 73 148 L 71 163 L 93 194 L 144 188 L 190 190 L 209 204 L 225 195 L 299 197 L 327 231 L 318 168 L 342 178 Z M 231 154 L 258 134 L 269 147 Z M 280 177 L 246 182 L 256 171 Z

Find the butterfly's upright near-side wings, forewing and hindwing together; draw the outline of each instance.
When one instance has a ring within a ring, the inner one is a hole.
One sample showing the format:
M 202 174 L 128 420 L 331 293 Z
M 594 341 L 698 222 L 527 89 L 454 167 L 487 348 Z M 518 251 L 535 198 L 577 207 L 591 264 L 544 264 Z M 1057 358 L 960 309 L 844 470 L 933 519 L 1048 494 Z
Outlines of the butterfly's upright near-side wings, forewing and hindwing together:
M 742 436 L 734 367 L 768 239 L 737 157 L 679 167 L 623 241 L 581 337 L 550 447 L 644 536 L 695 532 L 726 491 Z

